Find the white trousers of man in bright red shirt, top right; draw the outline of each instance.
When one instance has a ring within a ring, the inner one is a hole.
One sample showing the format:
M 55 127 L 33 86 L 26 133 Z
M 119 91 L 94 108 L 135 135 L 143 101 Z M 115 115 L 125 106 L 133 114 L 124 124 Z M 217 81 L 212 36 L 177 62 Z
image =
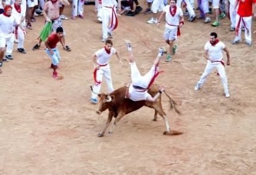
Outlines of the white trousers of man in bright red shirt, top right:
M 240 15 L 236 14 L 236 27 L 238 26 L 239 23 L 239 18 Z M 244 22 L 245 26 L 245 40 L 246 42 L 251 42 L 252 41 L 252 32 L 251 32 L 251 26 L 252 26 L 252 17 L 242 17 L 240 26 L 239 26 L 239 31 L 238 31 L 238 36 L 235 37 L 235 40 L 241 40 L 241 29 L 242 29 L 242 24 Z

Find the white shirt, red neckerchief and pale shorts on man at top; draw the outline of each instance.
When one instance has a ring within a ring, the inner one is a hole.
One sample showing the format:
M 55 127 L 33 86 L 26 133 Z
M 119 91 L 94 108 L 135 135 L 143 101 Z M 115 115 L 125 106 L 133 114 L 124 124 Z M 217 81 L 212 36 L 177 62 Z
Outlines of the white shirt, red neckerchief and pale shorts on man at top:
M 164 31 L 164 39 L 173 41 L 177 39 L 177 28 L 180 23 L 180 17 L 183 16 L 183 12 L 182 9 L 177 6 L 176 8 L 170 7 L 170 5 L 166 5 L 163 9 L 163 11 L 166 12 L 166 29 Z M 173 15 L 171 15 L 171 12 L 173 12 Z

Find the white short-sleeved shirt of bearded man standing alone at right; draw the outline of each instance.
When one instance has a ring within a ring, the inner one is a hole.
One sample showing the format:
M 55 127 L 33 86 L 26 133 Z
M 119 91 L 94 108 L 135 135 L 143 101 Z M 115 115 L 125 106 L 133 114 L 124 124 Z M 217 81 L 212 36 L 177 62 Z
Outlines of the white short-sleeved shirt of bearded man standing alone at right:
M 208 41 L 204 49 L 208 50 L 209 57 L 213 61 L 221 61 L 223 59 L 223 49 L 225 48 L 225 44 L 223 42 L 218 42 L 215 46 L 211 45 L 210 41 Z

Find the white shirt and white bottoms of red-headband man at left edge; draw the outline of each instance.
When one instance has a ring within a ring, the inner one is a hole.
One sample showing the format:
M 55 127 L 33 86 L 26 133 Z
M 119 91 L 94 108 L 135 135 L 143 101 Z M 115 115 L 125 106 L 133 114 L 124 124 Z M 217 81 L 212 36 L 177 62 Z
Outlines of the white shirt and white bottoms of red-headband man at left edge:
M 18 26 L 20 21 L 16 20 L 14 15 L 10 17 L 4 14 L 0 15 L 0 47 L 5 47 L 7 42 L 10 42 L 13 36 L 15 26 Z M 13 38 L 14 40 L 14 38 Z

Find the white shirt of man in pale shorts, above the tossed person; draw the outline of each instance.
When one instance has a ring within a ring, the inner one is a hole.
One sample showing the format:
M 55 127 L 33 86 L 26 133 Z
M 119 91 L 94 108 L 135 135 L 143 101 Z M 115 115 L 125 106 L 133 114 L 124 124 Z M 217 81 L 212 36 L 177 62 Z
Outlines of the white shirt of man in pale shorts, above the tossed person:
M 173 10 L 173 8 L 171 10 Z M 179 26 L 180 24 L 180 17 L 183 16 L 182 9 L 177 7 L 174 17 L 171 15 L 170 5 L 166 5 L 163 11 L 166 12 L 166 28 L 177 28 L 176 26 Z M 169 24 L 174 26 L 170 26 Z

